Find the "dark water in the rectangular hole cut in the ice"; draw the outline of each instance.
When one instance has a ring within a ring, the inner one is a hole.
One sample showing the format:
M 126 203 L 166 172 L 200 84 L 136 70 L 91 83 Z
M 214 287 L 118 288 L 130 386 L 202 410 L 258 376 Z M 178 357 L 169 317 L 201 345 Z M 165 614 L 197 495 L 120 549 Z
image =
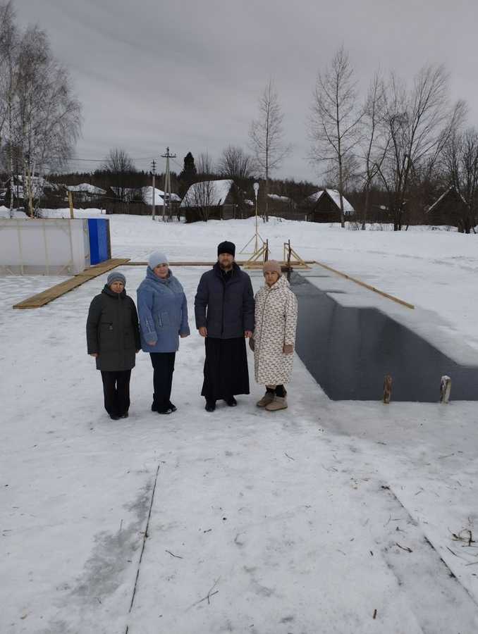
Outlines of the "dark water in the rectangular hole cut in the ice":
M 341 306 L 298 273 L 290 285 L 299 304 L 298 355 L 330 399 L 381 399 L 391 374 L 393 401 L 437 402 L 448 374 L 451 400 L 478 400 L 478 354 L 477 366 L 460 366 L 377 309 Z

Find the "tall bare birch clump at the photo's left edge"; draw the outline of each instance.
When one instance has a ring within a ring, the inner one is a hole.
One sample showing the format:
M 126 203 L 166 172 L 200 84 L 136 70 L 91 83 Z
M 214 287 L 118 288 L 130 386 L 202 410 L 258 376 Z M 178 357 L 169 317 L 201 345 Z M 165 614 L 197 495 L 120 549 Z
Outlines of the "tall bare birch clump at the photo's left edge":
M 56 61 L 39 27 L 18 32 L 13 4 L 0 6 L 0 145 L 8 163 L 13 209 L 13 158 L 22 173 L 23 199 L 33 215 L 42 176 L 73 153 L 80 131 L 80 104 L 66 68 Z M 38 175 L 37 187 L 32 187 Z

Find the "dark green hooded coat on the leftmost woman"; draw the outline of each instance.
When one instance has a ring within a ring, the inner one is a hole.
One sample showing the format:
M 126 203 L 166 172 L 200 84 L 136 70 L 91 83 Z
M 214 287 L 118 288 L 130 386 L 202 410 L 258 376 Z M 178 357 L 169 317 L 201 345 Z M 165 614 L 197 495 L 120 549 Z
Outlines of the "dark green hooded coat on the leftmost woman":
M 114 372 L 135 367 L 141 347 L 135 302 L 125 291 L 106 284 L 93 298 L 86 322 L 88 354 L 97 352 L 97 370 Z

